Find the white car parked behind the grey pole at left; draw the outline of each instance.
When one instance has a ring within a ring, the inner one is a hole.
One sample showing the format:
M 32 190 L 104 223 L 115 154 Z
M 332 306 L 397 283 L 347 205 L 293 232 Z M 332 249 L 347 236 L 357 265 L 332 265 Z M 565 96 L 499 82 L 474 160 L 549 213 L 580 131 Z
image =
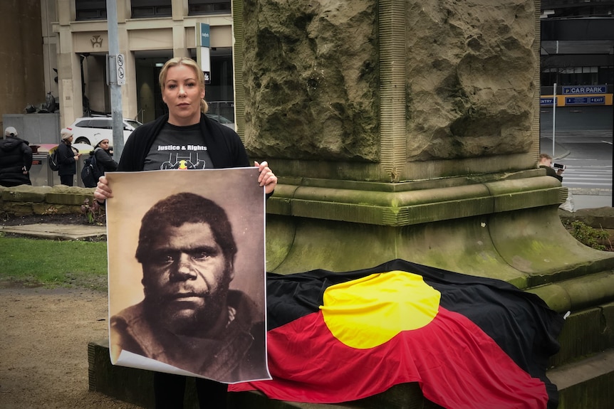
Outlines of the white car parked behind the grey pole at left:
M 134 119 L 123 119 L 124 144 L 132 131 L 142 124 Z M 95 147 L 103 139 L 109 139 L 113 147 L 113 117 L 83 117 L 68 125 L 73 131 L 73 143 L 88 144 Z

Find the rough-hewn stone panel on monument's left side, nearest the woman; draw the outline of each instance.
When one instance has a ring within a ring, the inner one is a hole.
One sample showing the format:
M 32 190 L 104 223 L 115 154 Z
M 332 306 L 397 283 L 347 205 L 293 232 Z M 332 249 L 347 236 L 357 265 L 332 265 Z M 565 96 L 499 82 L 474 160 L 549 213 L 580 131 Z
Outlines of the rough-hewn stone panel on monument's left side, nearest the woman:
M 377 161 L 378 2 L 243 3 L 247 149 Z

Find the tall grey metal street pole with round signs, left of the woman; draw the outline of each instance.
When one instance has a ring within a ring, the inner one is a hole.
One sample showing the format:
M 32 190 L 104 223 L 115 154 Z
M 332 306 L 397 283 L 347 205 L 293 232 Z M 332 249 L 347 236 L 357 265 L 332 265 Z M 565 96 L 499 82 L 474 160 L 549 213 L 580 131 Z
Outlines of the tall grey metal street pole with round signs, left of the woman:
M 113 115 L 113 156 L 120 160 L 124 150 L 124 127 L 122 114 L 122 88 L 118 84 L 118 6 L 116 0 L 107 0 L 107 24 L 109 33 L 109 87 L 111 91 L 111 113 Z

